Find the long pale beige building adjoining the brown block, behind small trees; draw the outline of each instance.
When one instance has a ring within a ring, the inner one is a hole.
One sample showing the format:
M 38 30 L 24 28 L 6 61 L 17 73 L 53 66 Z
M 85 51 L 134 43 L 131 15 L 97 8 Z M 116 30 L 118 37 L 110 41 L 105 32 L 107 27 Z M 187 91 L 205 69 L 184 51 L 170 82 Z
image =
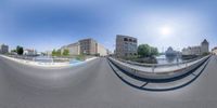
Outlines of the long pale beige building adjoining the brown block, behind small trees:
M 79 42 L 62 46 L 61 48 L 61 53 L 63 53 L 64 50 L 68 50 L 69 51 L 69 55 L 79 55 L 80 54 Z

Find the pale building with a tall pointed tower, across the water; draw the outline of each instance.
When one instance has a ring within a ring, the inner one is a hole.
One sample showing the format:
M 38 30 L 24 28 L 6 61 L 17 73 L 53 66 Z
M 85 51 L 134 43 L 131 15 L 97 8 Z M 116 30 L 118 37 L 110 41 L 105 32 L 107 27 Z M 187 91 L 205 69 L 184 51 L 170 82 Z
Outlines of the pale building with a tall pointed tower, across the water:
M 209 43 L 207 42 L 206 39 L 204 39 L 201 45 L 182 49 L 182 55 L 203 55 L 204 53 L 209 52 L 208 46 L 209 46 Z

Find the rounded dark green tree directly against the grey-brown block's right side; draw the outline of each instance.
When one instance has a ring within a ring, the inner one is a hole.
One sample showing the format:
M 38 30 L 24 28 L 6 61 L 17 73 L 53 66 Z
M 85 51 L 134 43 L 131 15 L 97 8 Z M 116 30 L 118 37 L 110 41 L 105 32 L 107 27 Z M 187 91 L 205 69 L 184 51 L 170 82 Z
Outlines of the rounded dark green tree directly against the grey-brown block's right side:
M 149 44 L 140 44 L 138 46 L 138 55 L 141 57 L 148 57 L 151 54 L 151 49 Z

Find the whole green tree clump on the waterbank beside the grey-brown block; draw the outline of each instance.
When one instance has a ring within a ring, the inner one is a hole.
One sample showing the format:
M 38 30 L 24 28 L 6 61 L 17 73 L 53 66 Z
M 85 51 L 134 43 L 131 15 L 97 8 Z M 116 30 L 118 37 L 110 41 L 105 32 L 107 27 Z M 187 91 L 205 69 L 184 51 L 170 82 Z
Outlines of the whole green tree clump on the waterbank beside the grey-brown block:
M 138 55 L 140 55 L 140 57 L 151 57 L 153 55 L 158 55 L 158 50 L 149 44 L 140 44 L 138 46 Z

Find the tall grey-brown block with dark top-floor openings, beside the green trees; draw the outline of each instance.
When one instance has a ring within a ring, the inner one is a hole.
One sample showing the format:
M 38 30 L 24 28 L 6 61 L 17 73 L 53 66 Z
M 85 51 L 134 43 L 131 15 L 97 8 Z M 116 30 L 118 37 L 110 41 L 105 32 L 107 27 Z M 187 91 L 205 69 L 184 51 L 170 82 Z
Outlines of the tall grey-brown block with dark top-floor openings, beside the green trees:
M 137 55 L 137 38 L 117 35 L 115 54 L 117 57 Z

